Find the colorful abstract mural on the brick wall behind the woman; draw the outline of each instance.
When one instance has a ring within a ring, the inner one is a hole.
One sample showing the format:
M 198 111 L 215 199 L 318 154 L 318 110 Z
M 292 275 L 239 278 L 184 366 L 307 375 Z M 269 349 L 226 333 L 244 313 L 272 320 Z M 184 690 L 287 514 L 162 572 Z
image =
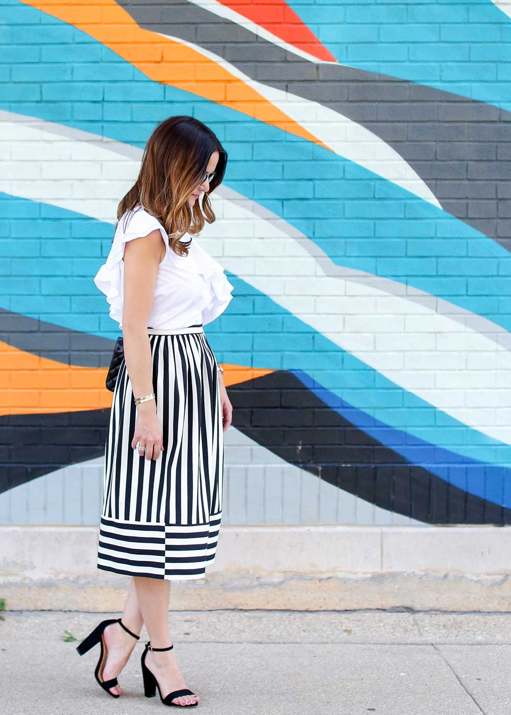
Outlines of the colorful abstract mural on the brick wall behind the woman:
M 0 0 L 0 523 L 97 523 L 92 277 L 155 126 L 228 151 L 231 523 L 511 523 L 510 6 Z

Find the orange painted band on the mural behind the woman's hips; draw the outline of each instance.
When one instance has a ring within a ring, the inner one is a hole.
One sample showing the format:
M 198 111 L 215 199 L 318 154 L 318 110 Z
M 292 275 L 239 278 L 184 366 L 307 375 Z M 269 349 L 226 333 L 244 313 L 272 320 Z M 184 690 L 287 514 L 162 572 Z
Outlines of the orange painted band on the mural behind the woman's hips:
M 222 367 L 226 387 L 274 372 Z M 0 416 L 109 409 L 112 393 L 104 385 L 106 377 L 107 368 L 64 365 L 0 342 Z

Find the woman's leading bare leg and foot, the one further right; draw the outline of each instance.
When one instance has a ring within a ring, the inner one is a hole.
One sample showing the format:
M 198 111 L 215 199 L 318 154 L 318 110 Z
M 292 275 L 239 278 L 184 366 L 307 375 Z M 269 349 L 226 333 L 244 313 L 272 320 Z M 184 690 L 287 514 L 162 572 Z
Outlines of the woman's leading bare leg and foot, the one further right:
M 147 578 L 146 576 L 134 576 L 133 578 L 140 611 L 147 633 L 149 633 L 151 645 L 155 648 L 168 648 L 172 645 L 168 623 L 170 581 L 164 578 Z M 165 698 L 172 690 L 187 687 L 174 649 L 162 653 L 148 651 L 145 656 L 145 664 L 160 684 L 162 698 Z M 199 700 L 198 695 L 185 695 L 174 698 L 172 703 L 188 705 Z

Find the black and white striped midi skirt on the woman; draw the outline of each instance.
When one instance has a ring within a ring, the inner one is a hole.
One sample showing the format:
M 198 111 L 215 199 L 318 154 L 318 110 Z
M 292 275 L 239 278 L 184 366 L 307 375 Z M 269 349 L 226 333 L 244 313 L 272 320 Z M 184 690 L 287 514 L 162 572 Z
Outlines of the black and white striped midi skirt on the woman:
M 222 519 L 223 415 L 217 362 L 202 325 L 147 328 L 163 450 L 131 446 L 137 405 L 122 360 L 104 448 L 97 568 L 190 579 L 215 561 Z

